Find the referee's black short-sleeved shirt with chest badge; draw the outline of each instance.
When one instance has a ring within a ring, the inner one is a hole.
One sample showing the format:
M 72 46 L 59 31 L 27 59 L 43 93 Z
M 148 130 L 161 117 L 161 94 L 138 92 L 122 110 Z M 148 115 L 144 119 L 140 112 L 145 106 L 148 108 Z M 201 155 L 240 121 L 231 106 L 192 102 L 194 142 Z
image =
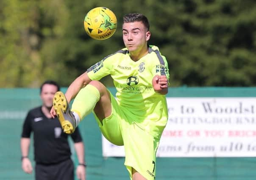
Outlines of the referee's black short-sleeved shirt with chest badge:
M 33 132 L 34 159 L 37 164 L 56 164 L 70 158 L 68 134 L 61 129 L 58 118 L 48 119 L 42 106 L 30 110 L 25 118 L 21 137 L 30 138 Z M 82 142 L 79 129 L 71 134 L 74 142 Z

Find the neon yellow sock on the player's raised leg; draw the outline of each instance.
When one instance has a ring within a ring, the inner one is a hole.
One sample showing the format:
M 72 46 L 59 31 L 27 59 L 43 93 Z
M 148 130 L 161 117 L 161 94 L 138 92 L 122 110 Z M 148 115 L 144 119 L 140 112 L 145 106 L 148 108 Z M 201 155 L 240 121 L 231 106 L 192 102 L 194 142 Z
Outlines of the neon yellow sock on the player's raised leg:
M 76 95 L 71 111 L 77 113 L 82 121 L 85 116 L 92 112 L 99 100 L 99 90 L 95 86 L 88 84 Z

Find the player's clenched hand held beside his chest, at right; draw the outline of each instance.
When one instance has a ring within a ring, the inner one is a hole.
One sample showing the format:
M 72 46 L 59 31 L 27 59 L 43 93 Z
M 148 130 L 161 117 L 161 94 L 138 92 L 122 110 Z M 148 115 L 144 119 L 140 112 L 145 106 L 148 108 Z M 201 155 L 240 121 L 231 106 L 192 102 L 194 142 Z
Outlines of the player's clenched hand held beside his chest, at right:
M 160 94 L 166 94 L 168 90 L 168 79 L 166 75 L 155 75 L 152 80 L 153 88 Z

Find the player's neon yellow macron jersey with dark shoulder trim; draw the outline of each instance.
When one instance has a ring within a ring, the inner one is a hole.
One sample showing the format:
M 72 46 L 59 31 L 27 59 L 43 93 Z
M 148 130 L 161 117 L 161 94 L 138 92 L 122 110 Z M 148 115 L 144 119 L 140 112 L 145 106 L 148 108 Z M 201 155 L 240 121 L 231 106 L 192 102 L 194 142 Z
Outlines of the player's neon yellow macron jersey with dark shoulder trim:
M 160 139 L 168 119 L 167 103 L 164 95 L 154 91 L 152 79 L 155 75 L 166 75 L 169 80 L 169 69 L 158 47 L 150 45 L 149 53 L 136 62 L 123 48 L 90 67 L 87 73 L 91 80 L 111 75 L 117 103 L 127 121 Z

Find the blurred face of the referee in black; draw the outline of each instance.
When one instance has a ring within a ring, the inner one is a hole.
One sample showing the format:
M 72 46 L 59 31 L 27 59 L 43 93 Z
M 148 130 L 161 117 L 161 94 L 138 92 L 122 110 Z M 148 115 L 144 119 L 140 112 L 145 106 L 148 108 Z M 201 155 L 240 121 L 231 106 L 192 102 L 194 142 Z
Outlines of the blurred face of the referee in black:
M 43 106 L 51 108 L 53 106 L 53 96 L 58 91 L 57 86 L 53 84 L 45 84 L 42 87 L 41 99 Z

